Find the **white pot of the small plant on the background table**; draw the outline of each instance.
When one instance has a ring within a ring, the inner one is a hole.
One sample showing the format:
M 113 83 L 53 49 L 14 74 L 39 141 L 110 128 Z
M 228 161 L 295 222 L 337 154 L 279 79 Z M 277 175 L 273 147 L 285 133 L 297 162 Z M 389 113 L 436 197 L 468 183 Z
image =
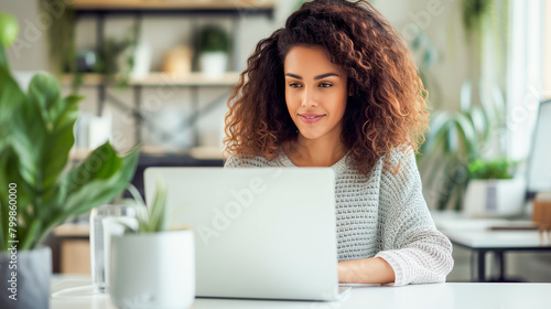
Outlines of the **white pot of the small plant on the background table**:
M 526 194 L 523 178 L 471 180 L 463 212 L 468 217 L 508 217 L 522 213 Z

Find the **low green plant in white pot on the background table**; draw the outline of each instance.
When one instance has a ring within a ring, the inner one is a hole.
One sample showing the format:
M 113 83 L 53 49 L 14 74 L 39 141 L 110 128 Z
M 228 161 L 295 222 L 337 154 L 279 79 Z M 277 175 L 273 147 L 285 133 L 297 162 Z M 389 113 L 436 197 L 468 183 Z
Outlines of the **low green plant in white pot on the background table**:
M 512 168 L 516 164 L 504 158 L 471 162 L 463 207 L 465 215 L 504 217 L 521 214 L 526 181 L 523 178 L 514 178 Z

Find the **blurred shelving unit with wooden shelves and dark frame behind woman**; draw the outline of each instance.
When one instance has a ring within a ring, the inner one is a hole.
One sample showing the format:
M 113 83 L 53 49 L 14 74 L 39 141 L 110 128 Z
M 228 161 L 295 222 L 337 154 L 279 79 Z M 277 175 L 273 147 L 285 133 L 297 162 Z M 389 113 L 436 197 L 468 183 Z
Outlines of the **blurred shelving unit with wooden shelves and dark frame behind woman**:
M 267 0 L 74 0 L 72 4 L 72 10 L 75 13 L 77 23 L 84 17 L 93 21 L 91 26 L 95 26 L 97 47 L 105 43 L 107 17 L 130 17 L 136 23 L 138 32 L 141 32 L 143 22 L 142 19 L 144 17 L 190 18 L 192 33 L 197 33 L 199 30 L 199 24 L 197 22 L 198 18 L 224 18 L 229 19 L 229 33 L 230 36 L 234 38 L 234 41 L 236 41 L 236 35 L 242 35 L 239 33 L 245 30 L 239 29 L 239 19 L 250 15 L 260 15 L 268 18 L 269 21 L 273 21 L 274 9 L 276 1 Z M 148 125 L 148 128 L 154 127 L 152 124 L 153 121 L 150 121 L 151 119 L 148 119 L 148 115 L 144 114 L 142 106 L 142 90 L 148 87 L 187 88 L 191 90 L 191 96 L 183 104 L 186 104 L 188 109 L 191 108 L 191 113 L 185 115 L 185 119 L 182 121 L 183 127 L 175 131 L 191 130 L 195 136 L 195 140 L 197 140 L 198 132 L 196 124 L 199 117 L 202 117 L 202 115 L 206 115 L 209 109 L 218 107 L 220 102 L 224 102 L 225 98 L 229 97 L 231 89 L 239 79 L 239 73 L 236 72 L 237 55 L 235 49 L 236 46 L 233 45 L 234 51 L 229 52 L 230 72 L 227 72 L 219 78 L 208 78 L 201 72 L 192 72 L 191 74 L 181 77 L 173 77 L 162 72 L 152 72 L 144 78 L 130 78 L 128 81 L 128 89 L 131 90 L 132 97 L 132 104 L 130 106 L 126 104 L 126 102 L 121 102 L 121 99 L 119 99 L 116 95 L 109 93 L 110 87 L 115 85 L 109 83 L 104 75 L 87 73 L 79 74 L 79 77 L 82 78 L 80 87 L 91 88 L 95 92 L 97 90 L 97 115 L 102 114 L 104 103 L 108 103 L 110 106 L 114 106 L 123 113 L 130 114 L 134 119 L 134 140 L 137 143 L 142 141 L 142 127 L 145 124 Z M 75 76 L 65 75 L 63 76 L 62 83 L 68 86 L 72 84 L 73 78 L 75 78 Z M 227 92 L 224 92 L 220 96 L 217 96 L 214 99 L 210 96 L 209 102 L 206 102 L 205 99 L 201 100 L 199 88 L 214 87 L 227 88 Z M 162 134 L 164 137 L 165 132 L 162 131 Z M 156 150 L 158 149 L 155 149 L 154 153 L 142 152 L 140 156 L 140 161 L 138 163 L 138 169 L 132 183 L 141 192 L 143 192 L 142 172 L 148 167 L 213 167 L 223 164 L 222 153 L 216 156 L 213 151 L 191 149 L 190 151 L 182 153 L 163 153 L 162 151 Z M 75 160 L 78 160 L 77 154 L 78 153 L 75 153 Z

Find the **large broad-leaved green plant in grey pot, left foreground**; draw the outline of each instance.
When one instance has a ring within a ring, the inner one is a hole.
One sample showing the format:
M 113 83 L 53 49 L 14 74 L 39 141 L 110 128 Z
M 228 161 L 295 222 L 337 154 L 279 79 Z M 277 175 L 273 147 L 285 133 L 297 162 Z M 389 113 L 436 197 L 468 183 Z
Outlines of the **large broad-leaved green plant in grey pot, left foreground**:
M 6 14 L 0 20 L 9 19 Z M 11 22 L 13 23 L 14 20 Z M 0 308 L 47 308 L 53 227 L 120 194 L 136 170 L 137 150 L 119 157 L 109 143 L 66 170 L 79 96 L 39 73 L 24 93 L 13 78 L 0 22 Z

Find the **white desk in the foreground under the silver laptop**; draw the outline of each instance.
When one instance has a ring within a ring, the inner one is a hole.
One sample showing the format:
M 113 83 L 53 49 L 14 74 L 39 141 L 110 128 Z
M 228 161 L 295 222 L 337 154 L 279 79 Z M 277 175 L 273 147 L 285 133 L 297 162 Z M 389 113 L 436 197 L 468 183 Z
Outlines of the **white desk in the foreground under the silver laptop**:
M 54 279 L 52 291 L 88 285 L 89 280 Z M 549 308 L 551 284 L 439 284 L 406 287 L 355 287 L 341 302 L 196 299 L 194 309 L 350 309 L 350 308 Z M 53 298 L 51 309 L 115 309 L 108 296 Z

